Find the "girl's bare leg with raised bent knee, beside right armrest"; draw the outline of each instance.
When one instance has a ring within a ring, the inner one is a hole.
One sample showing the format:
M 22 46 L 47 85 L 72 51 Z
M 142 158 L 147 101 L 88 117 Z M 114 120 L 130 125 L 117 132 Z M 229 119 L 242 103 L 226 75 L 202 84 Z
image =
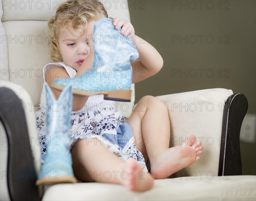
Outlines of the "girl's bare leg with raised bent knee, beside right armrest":
M 201 155 L 203 146 L 200 142 L 195 144 L 195 136 L 190 136 L 181 146 L 169 148 L 168 109 L 153 96 L 140 99 L 127 123 L 132 127 L 137 149 L 145 160 L 150 159 L 154 178 L 166 178 L 200 159 L 198 155 Z

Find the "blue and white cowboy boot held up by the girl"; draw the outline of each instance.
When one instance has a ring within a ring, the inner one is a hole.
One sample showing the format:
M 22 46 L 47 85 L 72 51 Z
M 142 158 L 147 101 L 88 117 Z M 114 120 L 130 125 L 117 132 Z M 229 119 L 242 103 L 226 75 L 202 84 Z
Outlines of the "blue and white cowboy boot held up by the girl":
M 102 18 L 94 24 L 93 68 L 79 77 L 56 79 L 51 87 L 63 90 L 72 85 L 73 93 L 91 96 L 104 94 L 104 99 L 131 100 L 131 62 L 139 58 L 134 42 L 116 30 L 113 20 Z

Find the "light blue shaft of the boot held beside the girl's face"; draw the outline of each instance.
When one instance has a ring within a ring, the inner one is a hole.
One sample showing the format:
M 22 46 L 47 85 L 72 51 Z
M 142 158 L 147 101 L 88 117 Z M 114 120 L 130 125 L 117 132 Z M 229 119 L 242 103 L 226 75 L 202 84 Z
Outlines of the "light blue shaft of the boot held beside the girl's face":
M 93 48 L 97 71 L 102 70 L 129 70 L 131 62 L 139 58 L 134 42 L 123 36 L 121 28 L 116 30 L 113 20 L 102 18 L 94 24 Z

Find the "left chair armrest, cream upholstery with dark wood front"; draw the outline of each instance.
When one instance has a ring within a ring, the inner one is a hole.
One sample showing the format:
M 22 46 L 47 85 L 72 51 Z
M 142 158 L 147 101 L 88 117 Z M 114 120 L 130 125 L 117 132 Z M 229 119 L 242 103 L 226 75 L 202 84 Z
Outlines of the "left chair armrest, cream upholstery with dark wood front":
M 8 142 L 9 196 L 11 200 L 40 200 L 35 181 L 41 166 L 41 150 L 32 101 L 26 90 L 9 81 L 1 80 L 0 93 L 0 120 L 7 137 L 5 143 Z M 1 159 L 2 163 L 6 161 Z

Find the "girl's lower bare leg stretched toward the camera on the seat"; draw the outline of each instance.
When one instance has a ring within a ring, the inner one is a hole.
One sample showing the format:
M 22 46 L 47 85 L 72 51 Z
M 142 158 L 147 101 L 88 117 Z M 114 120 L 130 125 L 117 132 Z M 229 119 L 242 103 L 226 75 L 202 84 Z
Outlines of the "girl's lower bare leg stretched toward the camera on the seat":
M 97 139 L 80 139 L 71 150 L 73 170 L 80 181 L 122 184 L 129 190 L 153 187 L 153 178 L 133 159 L 124 161 Z

